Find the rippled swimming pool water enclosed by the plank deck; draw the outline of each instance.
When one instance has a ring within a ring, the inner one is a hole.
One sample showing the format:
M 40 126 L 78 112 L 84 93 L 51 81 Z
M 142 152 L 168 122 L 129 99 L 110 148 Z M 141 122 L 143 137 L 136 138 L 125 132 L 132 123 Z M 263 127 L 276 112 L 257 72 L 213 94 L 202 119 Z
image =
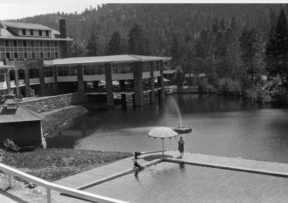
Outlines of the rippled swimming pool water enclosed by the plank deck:
M 87 192 L 127 202 L 287 202 L 288 178 L 161 162 Z

